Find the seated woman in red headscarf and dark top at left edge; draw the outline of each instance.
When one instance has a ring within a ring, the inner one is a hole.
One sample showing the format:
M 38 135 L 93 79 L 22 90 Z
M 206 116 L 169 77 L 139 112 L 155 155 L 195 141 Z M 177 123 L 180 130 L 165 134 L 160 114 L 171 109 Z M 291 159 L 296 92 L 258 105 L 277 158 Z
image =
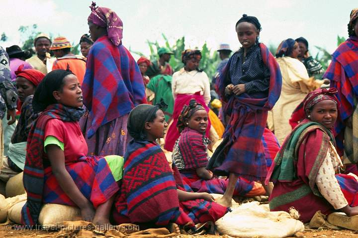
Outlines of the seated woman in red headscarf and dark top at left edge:
M 32 122 L 38 114 L 33 112 L 32 98 L 37 85 L 45 75 L 35 69 L 24 69 L 20 65 L 16 75 L 16 87 L 18 93 L 17 109 L 21 111 L 19 120 L 9 143 L 7 156 L 2 158 L 0 179 L 6 182 L 10 177 L 22 172 L 25 166 L 26 141 Z

